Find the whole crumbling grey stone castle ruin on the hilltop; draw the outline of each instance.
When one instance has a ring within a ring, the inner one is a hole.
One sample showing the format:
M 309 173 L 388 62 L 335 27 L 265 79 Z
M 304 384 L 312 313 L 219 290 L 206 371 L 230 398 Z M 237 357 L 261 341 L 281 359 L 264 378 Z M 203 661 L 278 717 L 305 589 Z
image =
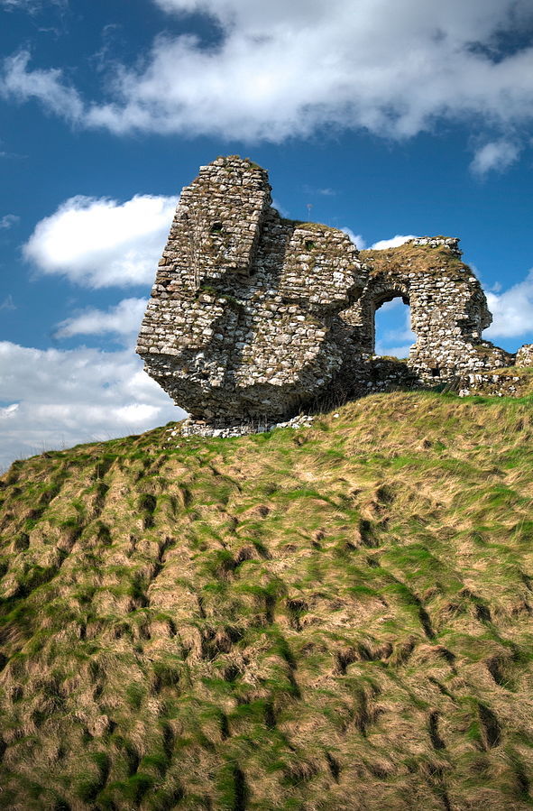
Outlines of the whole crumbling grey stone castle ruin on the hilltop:
M 510 366 L 482 339 L 492 316 L 458 244 L 360 252 L 342 231 L 280 217 L 260 166 L 217 158 L 181 192 L 137 352 L 188 432 L 216 436 Z M 407 361 L 374 354 L 375 311 L 397 297 L 417 336 Z M 533 364 L 533 346 L 516 360 Z

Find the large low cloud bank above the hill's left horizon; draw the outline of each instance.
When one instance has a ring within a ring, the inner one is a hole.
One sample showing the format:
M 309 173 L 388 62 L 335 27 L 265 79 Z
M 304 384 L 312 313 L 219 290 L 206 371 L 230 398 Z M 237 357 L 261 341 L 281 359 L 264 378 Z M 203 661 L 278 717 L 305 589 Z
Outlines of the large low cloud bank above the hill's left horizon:
M 0 342 L 0 468 L 47 448 L 140 433 L 184 412 L 131 352 Z

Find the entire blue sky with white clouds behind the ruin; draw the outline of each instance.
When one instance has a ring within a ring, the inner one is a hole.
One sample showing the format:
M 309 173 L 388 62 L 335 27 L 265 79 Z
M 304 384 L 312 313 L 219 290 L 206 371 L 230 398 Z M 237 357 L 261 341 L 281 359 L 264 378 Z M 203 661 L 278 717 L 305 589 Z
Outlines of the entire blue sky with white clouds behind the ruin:
M 530 0 L 0 0 L 0 43 L 0 467 L 179 418 L 134 337 L 219 154 L 360 247 L 460 236 L 487 336 L 533 341 Z

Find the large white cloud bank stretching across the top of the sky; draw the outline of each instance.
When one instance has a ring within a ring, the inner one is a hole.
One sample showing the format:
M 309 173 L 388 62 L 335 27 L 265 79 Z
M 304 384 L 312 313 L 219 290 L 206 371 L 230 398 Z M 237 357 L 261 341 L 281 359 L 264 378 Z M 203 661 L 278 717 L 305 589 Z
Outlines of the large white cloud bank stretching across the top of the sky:
M 403 138 L 460 118 L 508 132 L 533 116 L 530 0 L 153 2 L 209 15 L 219 41 L 161 35 L 133 66 L 110 64 L 105 103 L 20 53 L 5 63 L 5 95 L 117 134 L 274 142 L 331 125 Z M 506 50 L 513 37 L 523 44 Z

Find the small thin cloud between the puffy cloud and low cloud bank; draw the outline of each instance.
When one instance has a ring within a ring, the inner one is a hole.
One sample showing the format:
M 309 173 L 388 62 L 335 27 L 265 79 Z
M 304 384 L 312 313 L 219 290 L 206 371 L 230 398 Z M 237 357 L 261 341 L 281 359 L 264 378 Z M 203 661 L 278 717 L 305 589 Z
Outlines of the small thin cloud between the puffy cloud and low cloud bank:
M 58 338 L 75 335 L 103 335 L 113 332 L 130 338 L 139 332 L 147 299 L 123 299 L 107 310 L 87 308 L 77 316 L 61 321 L 56 330 Z

